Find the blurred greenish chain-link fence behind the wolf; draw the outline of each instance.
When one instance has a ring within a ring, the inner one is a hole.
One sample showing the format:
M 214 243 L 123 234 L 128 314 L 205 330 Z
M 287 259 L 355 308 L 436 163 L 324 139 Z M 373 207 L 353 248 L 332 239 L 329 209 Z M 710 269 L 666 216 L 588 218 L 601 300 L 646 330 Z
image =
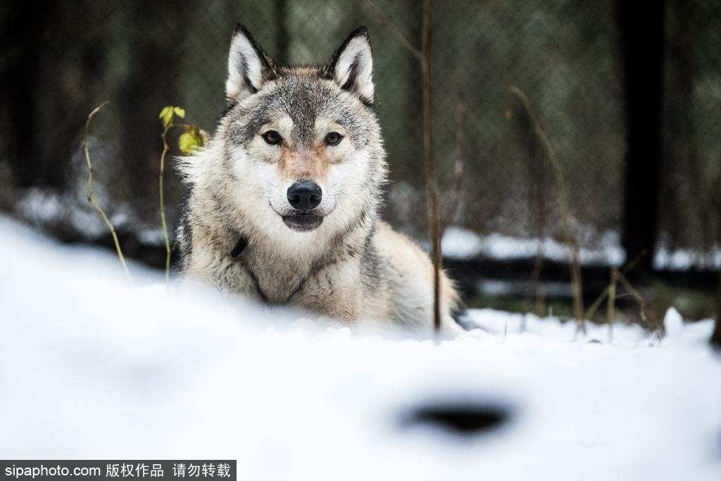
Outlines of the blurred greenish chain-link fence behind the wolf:
M 721 12 L 709 0 L 666 3 L 659 238 L 668 249 L 711 252 L 721 239 Z M 562 239 L 554 172 L 509 90 L 515 86 L 562 164 L 578 242 L 593 248 L 609 239 L 604 233 L 620 238 L 627 132 L 615 7 L 611 0 L 435 2 L 434 121 L 446 224 Z M 190 123 L 213 131 L 235 23 L 290 64 L 324 63 L 366 25 L 391 166 L 384 216 L 423 239 L 420 65 L 394 34 L 420 46 L 420 10 L 420 2 L 391 0 L 8 2 L 0 7 L 0 206 L 62 239 L 104 236 L 85 202 L 81 139 L 87 113 L 110 100 L 92 125 L 96 189 L 127 234 L 125 250 L 142 257 L 144 244 L 162 242 L 158 113 L 180 105 Z M 166 184 L 174 226 L 185 190 L 172 173 Z

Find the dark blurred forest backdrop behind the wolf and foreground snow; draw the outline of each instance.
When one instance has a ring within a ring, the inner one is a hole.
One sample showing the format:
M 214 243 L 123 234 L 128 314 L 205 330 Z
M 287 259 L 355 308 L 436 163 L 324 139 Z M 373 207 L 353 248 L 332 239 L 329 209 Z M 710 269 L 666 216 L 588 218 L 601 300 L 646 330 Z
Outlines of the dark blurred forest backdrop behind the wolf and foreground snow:
M 470 306 L 570 314 L 578 246 L 586 307 L 619 268 L 629 322 L 671 305 L 714 315 L 721 4 L 651 3 L 435 2 L 443 255 Z M 236 22 L 290 64 L 325 63 L 366 25 L 391 167 L 383 216 L 428 247 L 420 63 L 403 42 L 420 49 L 421 20 L 421 2 L 391 0 L 4 2 L 0 209 L 63 242 L 112 249 L 87 203 L 82 152 L 87 115 L 110 100 L 91 127 L 97 200 L 125 255 L 162 268 L 162 107 L 214 130 Z M 165 177 L 174 229 L 185 187 L 172 168 Z

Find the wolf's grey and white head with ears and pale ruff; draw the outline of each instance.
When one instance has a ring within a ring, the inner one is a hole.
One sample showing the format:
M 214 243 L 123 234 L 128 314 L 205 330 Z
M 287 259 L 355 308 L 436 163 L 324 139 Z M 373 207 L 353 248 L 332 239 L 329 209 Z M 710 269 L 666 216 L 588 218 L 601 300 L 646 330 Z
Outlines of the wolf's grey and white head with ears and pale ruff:
M 277 242 L 327 239 L 373 219 L 386 164 L 372 65 L 365 27 L 322 67 L 278 66 L 237 27 L 226 113 L 182 167 L 193 194 L 205 191 L 229 228 Z

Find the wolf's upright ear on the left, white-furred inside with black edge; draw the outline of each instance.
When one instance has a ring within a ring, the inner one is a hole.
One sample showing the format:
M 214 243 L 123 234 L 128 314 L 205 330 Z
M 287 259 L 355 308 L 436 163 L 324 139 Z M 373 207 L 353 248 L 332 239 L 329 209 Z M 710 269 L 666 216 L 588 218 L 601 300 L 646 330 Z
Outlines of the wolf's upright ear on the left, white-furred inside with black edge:
M 273 60 L 260 48 L 245 25 L 238 24 L 233 32 L 228 56 L 226 99 L 229 103 L 255 94 L 270 79 Z

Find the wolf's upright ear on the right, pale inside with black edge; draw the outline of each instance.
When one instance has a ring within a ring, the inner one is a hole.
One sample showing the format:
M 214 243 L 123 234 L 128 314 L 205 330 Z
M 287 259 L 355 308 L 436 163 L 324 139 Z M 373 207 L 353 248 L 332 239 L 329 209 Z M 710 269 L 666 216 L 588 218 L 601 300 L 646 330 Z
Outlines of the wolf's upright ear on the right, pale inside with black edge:
M 358 27 L 335 50 L 329 70 L 340 88 L 373 102 L 373 57 L 366 27 Z

